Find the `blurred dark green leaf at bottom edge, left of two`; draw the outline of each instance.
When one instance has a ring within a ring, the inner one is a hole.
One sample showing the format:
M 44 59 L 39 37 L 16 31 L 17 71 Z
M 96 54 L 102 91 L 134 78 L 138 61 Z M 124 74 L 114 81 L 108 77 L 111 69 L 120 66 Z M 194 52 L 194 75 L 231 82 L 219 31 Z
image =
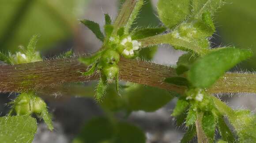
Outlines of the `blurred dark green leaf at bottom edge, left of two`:
M 114 135 L 114 126 L 108 118 L 98 117 L 88 121 L 73 143 L 102 143 Z

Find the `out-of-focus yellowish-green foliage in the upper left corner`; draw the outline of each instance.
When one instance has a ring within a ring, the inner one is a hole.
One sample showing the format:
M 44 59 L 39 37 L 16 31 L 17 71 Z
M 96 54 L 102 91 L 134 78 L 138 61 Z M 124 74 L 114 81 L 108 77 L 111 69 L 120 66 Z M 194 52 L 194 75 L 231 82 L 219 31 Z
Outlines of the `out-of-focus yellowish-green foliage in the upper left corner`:
M 38 50 L 72 37 L 87 0 L 1 0 L 0 49 L 14 52 L 40 35 Z M 78 7 L 79 6 L 79 7 Z

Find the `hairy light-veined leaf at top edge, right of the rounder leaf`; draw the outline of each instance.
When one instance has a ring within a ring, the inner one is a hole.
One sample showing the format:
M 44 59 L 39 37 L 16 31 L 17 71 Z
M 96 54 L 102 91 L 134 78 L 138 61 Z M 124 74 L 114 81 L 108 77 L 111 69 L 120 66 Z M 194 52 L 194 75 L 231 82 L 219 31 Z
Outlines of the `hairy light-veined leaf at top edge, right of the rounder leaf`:
M 192 0 L 193 15 L 192 18 L 200 18 L 203 13 L 209 11 L 213 15 L 226 0 Z

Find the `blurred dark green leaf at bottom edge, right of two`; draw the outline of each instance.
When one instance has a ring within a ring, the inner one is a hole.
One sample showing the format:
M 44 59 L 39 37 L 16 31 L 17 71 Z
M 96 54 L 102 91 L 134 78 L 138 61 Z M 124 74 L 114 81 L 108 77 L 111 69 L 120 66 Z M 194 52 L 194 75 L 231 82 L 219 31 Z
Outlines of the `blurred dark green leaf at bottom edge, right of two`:
M 126 122 L 117 124 L 117 135 L 114 143 L 146 143 L 144 132 L 138 127 Z

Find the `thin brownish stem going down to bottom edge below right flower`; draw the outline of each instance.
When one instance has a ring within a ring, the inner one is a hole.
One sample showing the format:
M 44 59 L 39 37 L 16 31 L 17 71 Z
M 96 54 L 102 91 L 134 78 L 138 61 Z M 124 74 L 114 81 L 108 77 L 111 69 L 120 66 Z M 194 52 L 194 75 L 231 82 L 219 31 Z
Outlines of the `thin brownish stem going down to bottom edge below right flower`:
M 197 114 L 197 120 L 196 120 L 196 135 L 197 135 L 197 142 L 198 143 L 209 143 L 207 136 L 205 136 L 202 128 L 202 118 L 203 118 L 203 112 L 200 112 Z

